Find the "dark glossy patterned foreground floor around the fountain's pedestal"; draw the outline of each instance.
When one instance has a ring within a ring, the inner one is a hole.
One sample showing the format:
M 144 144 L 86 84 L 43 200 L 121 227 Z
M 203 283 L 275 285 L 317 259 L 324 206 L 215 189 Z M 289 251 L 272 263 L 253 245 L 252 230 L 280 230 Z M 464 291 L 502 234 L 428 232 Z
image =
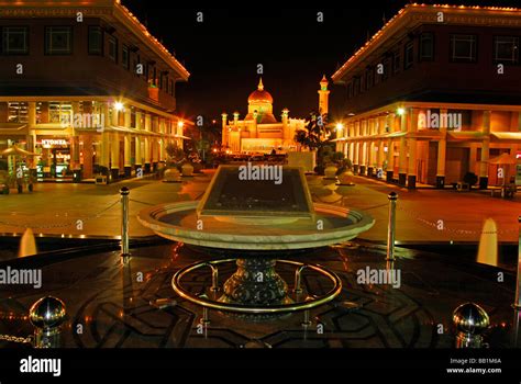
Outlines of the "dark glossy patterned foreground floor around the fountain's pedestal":
M 2 289 L 0 334 L 31 334 L 29 321 L 20 317 L 33 302 L 51 294 L 66 303 L 62 340 L 71 348 L 451 348 L 455 338 L 452 312 L 466 302 L 479 304 L 489 314 L 486 341 L 491 348 L 514 342 L 513 273 L 506 272 L 503 282 L 498 282 L 497 268 L 397 248 L 395 268 L 401 271 L 401 285 L 362 284 L 357 271 L 386 267 L 385 248 L 362 240 L 298 255 L 278 253 L 278 258 L 320 263 L 341 276 L 339 300 L 313 309 L 311 326 L 302 327 L 302 313 L 252 323 L 211 310 L 211 323 L 201 332 L 202 309 L 178 297 L 170 281 L 179 268 L 214 257 L 203 249 L 155 242 L 133 248 L 126 266 L 119 251 L 109 250 L 1 262 L 0 268 L 42 268 L 43 287 Z M 220 268 L 221 284 L 234 269 L 233 264 Z M 295 270 L 278 264 L 277 271 L 291 287 Z M 302 279 L 308 294 L 329 289 L 326 280 L 312 272 Z M 190 292 L 204 292 L 211 285 L 209 271 L 193 273 L 186 284 Z M 177 304 L 159 309 L 151 305 L 158 298 Z M 361 308 L 346 308 L 342 301 L 355 302 Z M 0 348 L 18 346 L 0 342 Z

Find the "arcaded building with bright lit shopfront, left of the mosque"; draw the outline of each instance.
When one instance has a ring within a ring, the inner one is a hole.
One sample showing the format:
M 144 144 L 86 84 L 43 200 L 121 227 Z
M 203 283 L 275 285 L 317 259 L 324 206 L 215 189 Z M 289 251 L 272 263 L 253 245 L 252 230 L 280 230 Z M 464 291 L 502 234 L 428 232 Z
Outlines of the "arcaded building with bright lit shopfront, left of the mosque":
M 146 173 L 182 145 L 190 74 L 119 0 L 0 1 L 0 149 L 40 179 Z

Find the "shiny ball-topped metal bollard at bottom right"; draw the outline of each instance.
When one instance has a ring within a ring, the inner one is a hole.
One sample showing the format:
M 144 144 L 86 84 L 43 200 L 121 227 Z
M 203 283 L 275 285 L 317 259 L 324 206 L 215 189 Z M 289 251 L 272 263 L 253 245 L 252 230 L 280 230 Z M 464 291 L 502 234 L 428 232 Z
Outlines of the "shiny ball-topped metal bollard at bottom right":
M 490 326 L 488 314 L 479 305 L 465 303 L 459 305 L 452 315 L 456 327 L 456 348 L 488 347 L 481 334 Z

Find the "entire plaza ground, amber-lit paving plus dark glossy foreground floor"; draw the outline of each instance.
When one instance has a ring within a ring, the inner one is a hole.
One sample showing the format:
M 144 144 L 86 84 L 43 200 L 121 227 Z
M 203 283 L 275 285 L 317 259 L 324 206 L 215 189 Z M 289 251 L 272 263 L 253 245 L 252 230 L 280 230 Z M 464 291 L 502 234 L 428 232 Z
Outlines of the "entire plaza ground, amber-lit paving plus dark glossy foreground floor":
M 42 289 L 2 286 L 0 334 L 29 335 L 29 307 L 42 296 L 54 295 L 67 305 L 65 347 L 451 348 L 455 338 L 453 310 L 459 304 L 475 302 L 490 315 L 491 327 L 486 335 L 490 347 L 518 342 L 512 336 L 513 258 L 496 268 L 475 263 L 475 255 L 453 251 L 442 256 L 442 248 L 436 247 L 450 241 L 476 244 L 488 217 L 498 225 L 499 241 L 513 244 L 521 213 L 519 197 L 508 201 L 477 192 L 407 191 L 366 178 L 355 178 L 356 185 L 343 204 L 373 215 L 376 224 L 372 229 L 359 239 L 335 247 L 276 256 L 320 263 L 341 278 L 341 296 L 313 309 L 311 326 L 301 325 L 302 313 L 251 321 L 213 310 L 210 325 L 201 334 L 198 325 L 202 309 L 176 296 L 171 276 L 187 264 L 214 256 L 154 237 L 136 215 L 160 203 L 199 200 L 212 174 L 206 171 L 181 183 L 151 179 L 110 185 L 45 183 L 32 194 L 0 195 L 0 268 L 42 269 L 44 280 Z M 122 187 L 131 190 L 133 241 L 132 259 L 126 266 L 122 266 L 117 250 Z M 357 280 L 361 270 L 386 268 L 387 195 L 391 191 L 399 194 L 397 242 L 431 244 L 434 253 L 397 248 L 399 258 L 393 267 L 401 272 L 400 286 L 364 284 Z M 443 229 L 439 228 L 440 221 Z M 26 227 L 33 229 L 41 249 L 52 246 L 34 257 L 16 258 L 19 236 Z M 71 247 L 71 240 L 85 241 L 85 247 Z M 112 242 L 103 242 L 108 240 Z M 517 253 L 512 249 L 510 252 Z M 222 267 L 221 283 L 234 270 L 232 264 Z M 291 287 L 295 270 L 284 264 L 277 270 Z M 498 279 L 499 274 L 503 279 Z M 304 274 L 303 284 L 309 295 L 329 290 L 328 282 L 311 272 Z M 191 274 L 187 281 L 190 292 L 198 294 L 210 285 L 208 272 Z M 151 305 L 158 298 L 177 304 L 159 309 Z M 346 307 L 342 304 L 345 301 L 361 307 Z M 0 347 L 15 345 L 1 341 Z

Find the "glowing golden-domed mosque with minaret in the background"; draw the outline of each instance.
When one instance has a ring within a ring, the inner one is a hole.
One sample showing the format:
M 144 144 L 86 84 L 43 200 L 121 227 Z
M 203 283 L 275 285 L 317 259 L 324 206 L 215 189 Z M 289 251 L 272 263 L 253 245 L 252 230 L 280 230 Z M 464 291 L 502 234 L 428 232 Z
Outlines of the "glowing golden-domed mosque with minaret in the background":
M 325 76 L 320 81 L 319 110 L 328 113 L 328 79 Z M 228 114 L 222 114 L 222 145 L 232 154 L 269 154 L 299 150 L 295 142 L 295 133 L 304 129 L 304 118 L 289 117 L 289 110 L 285 108 L 281 122 L 274 115 L 271 94 L 264 89 L 263 79 L 258 81 L 257 89 L 248 99 L 247 114 L 240 120 L 240 113 L 233 113 L 233 120 Z

